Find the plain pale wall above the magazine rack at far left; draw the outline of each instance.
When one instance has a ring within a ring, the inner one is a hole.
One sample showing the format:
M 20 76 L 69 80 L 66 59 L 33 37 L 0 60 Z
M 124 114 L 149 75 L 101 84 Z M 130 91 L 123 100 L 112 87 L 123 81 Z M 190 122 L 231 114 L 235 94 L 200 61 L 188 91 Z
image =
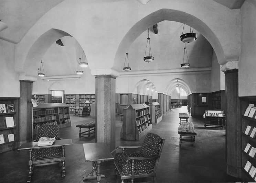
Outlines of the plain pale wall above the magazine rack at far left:
M 0 96 L 20 97 L 20 81 L 15 72 L 15 45 L 0 39 Z

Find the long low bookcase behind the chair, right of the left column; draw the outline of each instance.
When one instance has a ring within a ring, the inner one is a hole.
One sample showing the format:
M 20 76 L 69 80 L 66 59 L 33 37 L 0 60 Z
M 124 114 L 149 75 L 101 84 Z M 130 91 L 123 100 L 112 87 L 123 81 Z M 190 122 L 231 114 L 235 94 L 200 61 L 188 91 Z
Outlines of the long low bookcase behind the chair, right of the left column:
M 71 126 L 69 106 L 63 103 L 39 104 L 33 107 L 33 135 L 43 125 Z

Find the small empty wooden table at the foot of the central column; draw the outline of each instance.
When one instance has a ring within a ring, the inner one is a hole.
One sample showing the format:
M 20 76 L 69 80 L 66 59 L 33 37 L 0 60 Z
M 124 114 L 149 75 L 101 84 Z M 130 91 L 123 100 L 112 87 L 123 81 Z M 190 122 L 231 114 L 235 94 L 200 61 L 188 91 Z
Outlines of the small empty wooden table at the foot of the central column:
M 106 160 L 113 160 L 114 157 L 111 155 L 111 153 L 109 152 L 109 149 L 104 144 L 104 142 L 83 144 L 83 148 L 84 148 L 85 162 L 87 161 L 93 162 L 93 171 L 89 175 L 84 176 L 83 180 L 96 178 L 97 183 L 99 183 L 100 179 L 102 177 L 105 177 L 105 175 L 100 174 L 100 162 L 106 161 Z M 95 171 L 97 174 L 95 173 Z

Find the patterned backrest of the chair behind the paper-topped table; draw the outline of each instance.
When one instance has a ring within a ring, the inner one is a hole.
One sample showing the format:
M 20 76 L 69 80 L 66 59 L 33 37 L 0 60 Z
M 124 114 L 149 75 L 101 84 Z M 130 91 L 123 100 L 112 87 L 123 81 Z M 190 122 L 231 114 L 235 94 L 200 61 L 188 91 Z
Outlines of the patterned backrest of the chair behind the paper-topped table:
M 58 139 L 60 137 L 59 127 L 57 125 L 39 126 L 37 130 L 36 140 L 39 140 L 40 137 L 55 137 L 55 139 Z

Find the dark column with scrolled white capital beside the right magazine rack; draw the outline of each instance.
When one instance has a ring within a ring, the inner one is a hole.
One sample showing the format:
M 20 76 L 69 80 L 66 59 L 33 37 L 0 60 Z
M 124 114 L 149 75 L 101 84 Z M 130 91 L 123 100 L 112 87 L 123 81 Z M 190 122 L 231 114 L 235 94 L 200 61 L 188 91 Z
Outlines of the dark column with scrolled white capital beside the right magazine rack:
M 226 80 L 226 173 L 241 177 L 241 120 L 237 61 L 222 66 Z

